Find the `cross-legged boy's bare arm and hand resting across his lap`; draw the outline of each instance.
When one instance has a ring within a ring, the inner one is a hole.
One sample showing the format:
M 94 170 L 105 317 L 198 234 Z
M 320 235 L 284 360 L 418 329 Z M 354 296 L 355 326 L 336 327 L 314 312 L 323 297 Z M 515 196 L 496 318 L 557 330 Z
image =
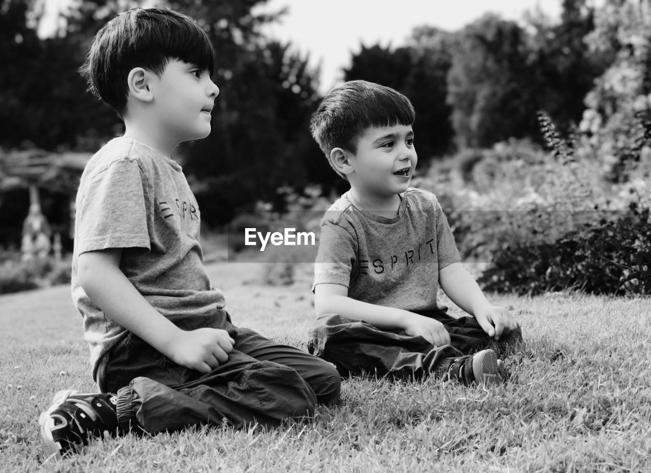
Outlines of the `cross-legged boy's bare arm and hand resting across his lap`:
M 326 314 L 340 314 L 363 320 L 378 329 L 404 330 L 411 336 L 420 335 L 435 346 L 450 343 L 450 334 L 441 322 L 408 310 L 357 301 L 348 297 L 348 288 L 341 284 L 316 284 L 314 308 L 317 318 Z

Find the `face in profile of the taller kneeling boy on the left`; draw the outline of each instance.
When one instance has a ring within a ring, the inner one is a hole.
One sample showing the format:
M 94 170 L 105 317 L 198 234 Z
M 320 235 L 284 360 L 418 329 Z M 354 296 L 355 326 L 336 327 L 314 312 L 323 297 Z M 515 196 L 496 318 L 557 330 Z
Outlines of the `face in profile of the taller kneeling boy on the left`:
M 210 113 L 219 88 L 208 71 L 173 60 L 150 87 L 161 138 L 178 144 L 210 134 Z

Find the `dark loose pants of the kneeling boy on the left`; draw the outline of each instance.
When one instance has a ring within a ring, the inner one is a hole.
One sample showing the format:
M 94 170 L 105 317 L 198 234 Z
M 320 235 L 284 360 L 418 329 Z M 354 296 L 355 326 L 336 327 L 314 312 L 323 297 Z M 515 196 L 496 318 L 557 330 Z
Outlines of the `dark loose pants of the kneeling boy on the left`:
M 339 401 L 340 376 L 330 363 L 234 327 L 225 311 L 219 316 L 208 325 L 227 330 L 235 344 L 227 362 L 208 374 L 174 363 L 133 334 L 109 352 L 100 386 L 117 392 L 124 431 L 277 426 L 287 418 L 311 416 L 317 403 Z M 191 330 L 202 319 L 190 326 L 187 318 L 173 321 Z

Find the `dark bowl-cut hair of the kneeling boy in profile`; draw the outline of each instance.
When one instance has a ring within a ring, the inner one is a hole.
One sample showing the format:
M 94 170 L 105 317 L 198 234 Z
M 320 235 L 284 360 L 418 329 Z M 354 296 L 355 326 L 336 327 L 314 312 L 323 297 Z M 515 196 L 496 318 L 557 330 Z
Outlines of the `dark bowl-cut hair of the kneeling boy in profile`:
M 134 8 L 98 31 L 79 68 L 93 95 L 111 105 L 120 118 L 126 111 L 127 77 L 136 67 L 156 75 L 177 59 L 214 72 L 214 49 L 195 20 L 162 8 Z

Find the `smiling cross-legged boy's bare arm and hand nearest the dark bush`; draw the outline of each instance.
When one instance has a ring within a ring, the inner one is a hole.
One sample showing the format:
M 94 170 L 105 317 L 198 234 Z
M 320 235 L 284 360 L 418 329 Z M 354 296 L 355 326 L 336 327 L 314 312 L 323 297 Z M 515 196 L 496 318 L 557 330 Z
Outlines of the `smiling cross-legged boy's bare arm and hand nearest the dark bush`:
M 492 306 L 473 278 L 461 263 L 452 263 L 439 269 L 441 289 L 460 308 L 475 316 L 489 336 L 499 340 L 518 327 L 516 319 L 501 306 Z

